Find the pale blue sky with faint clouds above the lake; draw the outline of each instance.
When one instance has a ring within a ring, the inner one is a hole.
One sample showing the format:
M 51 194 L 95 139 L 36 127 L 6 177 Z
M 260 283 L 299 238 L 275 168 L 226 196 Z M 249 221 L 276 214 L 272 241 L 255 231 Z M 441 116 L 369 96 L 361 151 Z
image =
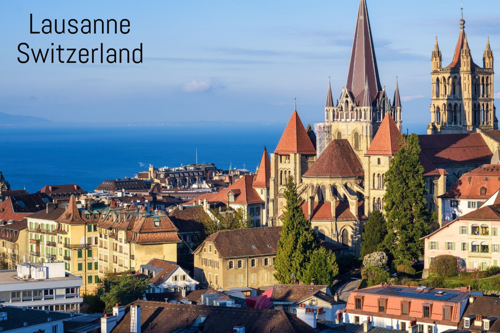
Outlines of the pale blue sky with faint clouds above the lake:
M 139 5 L 140 3 L 140 5 Z M 443 65 L 458 36 L 459 0 L 367 0 L 380 80 L 395 77 L 403 121 L 429 119 L 430 52 Z M 358 1 L 1 1 L 0 112 L 54 121 L 321 121 L 328 76 L 345 84 Z M 500 2 L 463 2 L 472 57 L 500 46 Z M 488 8 L 486 15 L 484 9 Z M 29 34 L 45 18 L 130 20 L 128 34 Z M 30 48 L 143 44 L 142 64 L 17 62 Z M 495 91 L 495 92 L 499 92 Z

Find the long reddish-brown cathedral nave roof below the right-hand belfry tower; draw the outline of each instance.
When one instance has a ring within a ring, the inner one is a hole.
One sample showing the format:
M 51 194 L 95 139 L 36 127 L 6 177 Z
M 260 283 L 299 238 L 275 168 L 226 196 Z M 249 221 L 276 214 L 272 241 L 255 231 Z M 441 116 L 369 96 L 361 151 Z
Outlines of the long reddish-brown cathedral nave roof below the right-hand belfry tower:
M 480 133 L 418 135 L 422 154 L 434 166 L 487 164 L 493 154 Z

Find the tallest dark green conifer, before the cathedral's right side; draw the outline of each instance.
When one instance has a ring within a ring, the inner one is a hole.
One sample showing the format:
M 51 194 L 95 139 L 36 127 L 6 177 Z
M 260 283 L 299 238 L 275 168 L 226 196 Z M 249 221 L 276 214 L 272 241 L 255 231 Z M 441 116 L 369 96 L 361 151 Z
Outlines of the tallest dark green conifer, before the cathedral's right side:
M 416 261 L 423 254 L 423 240 L 436 214 L 426 208 L 423 167 L 418 135 L 412 133 L 390 160 L 384 176 L 384 210 L 387 235 L 384 247 L 394 259 Z

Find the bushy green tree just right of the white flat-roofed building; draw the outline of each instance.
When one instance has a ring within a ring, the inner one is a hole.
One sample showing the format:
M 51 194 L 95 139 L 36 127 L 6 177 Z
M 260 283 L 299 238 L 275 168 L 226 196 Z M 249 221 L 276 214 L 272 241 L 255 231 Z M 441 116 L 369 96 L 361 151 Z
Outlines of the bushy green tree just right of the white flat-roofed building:
M 100 299 L 104 302 L 105 309 L 110 311 L 116 303 L 125 305 L 142 299 L 148 283 L 148 278 L 136 278 L 130 271 L 124 272 L 117 281 L 110 283 L 109 292 Z

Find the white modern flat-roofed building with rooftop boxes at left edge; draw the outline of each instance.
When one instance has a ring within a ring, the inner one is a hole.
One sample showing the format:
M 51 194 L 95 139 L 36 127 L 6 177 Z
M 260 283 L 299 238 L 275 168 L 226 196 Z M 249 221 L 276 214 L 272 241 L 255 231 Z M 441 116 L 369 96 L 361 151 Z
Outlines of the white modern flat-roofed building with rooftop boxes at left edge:
M 81 278 L 64 271 L 64 263 L 19 264 L 0 271 L 0 303 L 50 311 L 78 312 Z

